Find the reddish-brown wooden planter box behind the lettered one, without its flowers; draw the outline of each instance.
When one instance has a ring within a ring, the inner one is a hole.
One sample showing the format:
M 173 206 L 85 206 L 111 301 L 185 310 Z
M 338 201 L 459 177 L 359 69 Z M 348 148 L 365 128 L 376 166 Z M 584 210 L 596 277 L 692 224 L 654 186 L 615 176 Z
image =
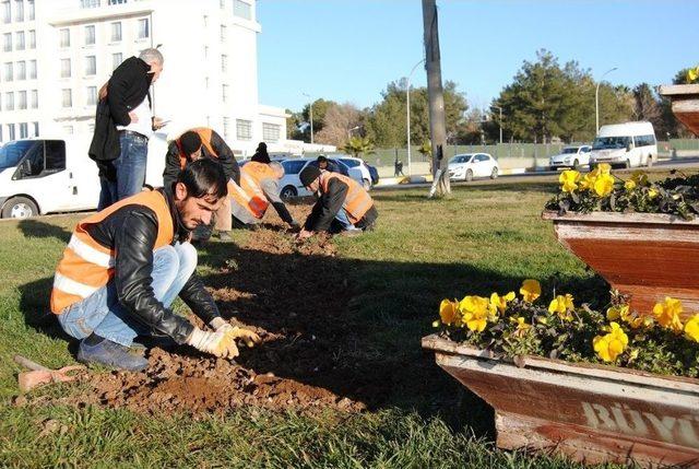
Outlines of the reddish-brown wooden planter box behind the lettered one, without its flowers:
M 683 302 L 683 319 L 699 312 L 699 220 L 656 213 L 544 212 L 556 237 L 650 314 L 665 296 Z

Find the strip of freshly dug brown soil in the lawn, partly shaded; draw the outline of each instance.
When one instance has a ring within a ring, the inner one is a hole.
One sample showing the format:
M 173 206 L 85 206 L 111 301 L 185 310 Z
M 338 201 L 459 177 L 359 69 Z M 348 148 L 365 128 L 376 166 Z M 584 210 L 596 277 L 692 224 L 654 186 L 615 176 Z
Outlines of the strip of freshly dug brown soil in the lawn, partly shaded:
M 303 221 L 309 206 L 289 209 Z M 214 267 L 204 283 L 222 315 L 263 342 L 241 347 L 235 362 L 186 347 L 153 348 L 144 372 L 85 375 L 91 391 L 73 397 L 74 403 L 197 414 L 241 406 L 352 412 L 380 400 L 389 384 L 378 362 L 357 353 L 360 328 L 347 307 L 347 267 L 330 238 L 298 242 L 273 214 L 241 246 L 206 245 L 200 263 Z

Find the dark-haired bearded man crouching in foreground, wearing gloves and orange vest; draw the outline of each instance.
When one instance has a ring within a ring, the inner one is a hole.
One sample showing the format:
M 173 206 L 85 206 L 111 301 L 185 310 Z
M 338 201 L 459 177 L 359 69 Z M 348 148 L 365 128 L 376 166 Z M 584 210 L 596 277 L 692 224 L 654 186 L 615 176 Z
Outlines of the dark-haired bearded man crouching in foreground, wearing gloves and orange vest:
M 221 357 L 238 354 L 235 340 L 259 342 L 224 321 L 194 272 L 191 231 L 211 222 L 226 197 L 226 177 L 210 160 L 191 163 L 171 187 L 123 199 L 78 223 L 54 278 L 51 310 L 80 339 L 78 360 L 140 371 L 137 336 L 169 337 Z M 213 332 L 169 308 L 179 295 Z

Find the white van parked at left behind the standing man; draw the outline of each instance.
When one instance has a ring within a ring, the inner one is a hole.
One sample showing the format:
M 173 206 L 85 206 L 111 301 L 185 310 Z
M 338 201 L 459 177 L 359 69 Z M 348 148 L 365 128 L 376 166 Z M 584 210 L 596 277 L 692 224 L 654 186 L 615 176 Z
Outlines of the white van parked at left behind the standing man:
M 0 218 L 96 209 L 99 178 L 87 156 L 91 138 L 33 138 L 0 146 Z M 149 186 L 163 185 L 166 149 L 157 133 L 149 142 Z

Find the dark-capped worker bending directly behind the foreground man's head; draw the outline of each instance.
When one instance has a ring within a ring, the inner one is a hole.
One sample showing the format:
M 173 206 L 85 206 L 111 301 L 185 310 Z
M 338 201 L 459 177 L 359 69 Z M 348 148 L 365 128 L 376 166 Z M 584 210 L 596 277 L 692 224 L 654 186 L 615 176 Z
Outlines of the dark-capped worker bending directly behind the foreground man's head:
M 178 173 L 189 163 L 202 157 L 211 159 L 221 164 L 226 179 L 240 181 L 240 168 L 233 151 L 214 130 L 206 127 L 197 127 L 182 133 L 179 138 L 170 142 L 165 157 L 165 171 L 163 172 L 163 183 L 165 187 L 170 187 Z M 224 199 L 221 209 L 215 213 L 214 228 L 218 232 L 221 239 L 230 239 L 230 206 L 228 199 Z M 211 236 L 210 230 L 202 226 L 194 232 L 194 239 L 206 241 Z

